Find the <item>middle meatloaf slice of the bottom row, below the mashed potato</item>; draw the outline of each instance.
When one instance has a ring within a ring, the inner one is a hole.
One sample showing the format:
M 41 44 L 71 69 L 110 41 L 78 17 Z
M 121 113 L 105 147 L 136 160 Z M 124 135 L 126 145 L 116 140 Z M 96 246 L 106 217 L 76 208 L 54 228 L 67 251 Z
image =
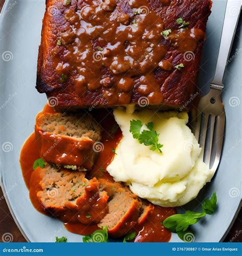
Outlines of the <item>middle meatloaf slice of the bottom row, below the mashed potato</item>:
M 109 201 L 108 208 L 109 213 L 98 225 L 107 226 L 110 237 L 124 236 L 137 223 L 140 202 L 128 188 L 119 188 Z

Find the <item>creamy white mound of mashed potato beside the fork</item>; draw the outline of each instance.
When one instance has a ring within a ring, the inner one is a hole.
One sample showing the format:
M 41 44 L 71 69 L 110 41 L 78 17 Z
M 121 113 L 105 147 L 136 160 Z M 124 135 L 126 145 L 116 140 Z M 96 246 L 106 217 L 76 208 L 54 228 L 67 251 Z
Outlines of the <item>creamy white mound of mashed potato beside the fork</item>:
M 123 132 L 116 155 L 107 167 L 115 181 L 126 182 L 134 194 L 154 204 L 174 207 L 196 198 L 209 182 L 213 170 L 199 158 L 201 148 L 191 133 L 186 112 L 155 112 L 151 110 L 127 113 L 114 110 L 114 117 Z M 140 144 L 130 133 L 130 121 L 141 120 L 143 129 L 154 123 L 163 144 L 162 153 Z

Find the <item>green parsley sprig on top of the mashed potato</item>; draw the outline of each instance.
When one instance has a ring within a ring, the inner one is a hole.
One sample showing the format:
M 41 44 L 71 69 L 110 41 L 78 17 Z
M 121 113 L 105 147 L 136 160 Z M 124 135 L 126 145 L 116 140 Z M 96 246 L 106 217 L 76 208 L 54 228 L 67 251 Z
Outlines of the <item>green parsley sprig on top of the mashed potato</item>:
M 158 142 L 159 134 L 154 131 L 154 123 L 150 122 L 146 126 L 149 129 L 143 130 L 140 133 L 141 127 L 143 126 L 143 123 L 140 120 L 131 120 L 130 121 L 130 132 L 133 135 L 134 139 L 137 139 L 140 144 L 144 144 L 146 146 L 151 146 L 150 150 L 152 151 L 159 151 L 159 153 L 162 153 L 161 147 L 163 146 Z

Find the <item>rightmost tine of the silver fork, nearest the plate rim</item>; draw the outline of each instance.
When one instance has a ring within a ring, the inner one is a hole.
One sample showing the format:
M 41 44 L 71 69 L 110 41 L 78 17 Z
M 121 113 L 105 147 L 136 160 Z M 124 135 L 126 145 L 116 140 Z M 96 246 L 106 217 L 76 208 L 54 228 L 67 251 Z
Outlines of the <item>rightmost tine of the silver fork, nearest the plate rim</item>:
M 217 116 L 216 118 L 216 137 L 215 137 L 215 146 L 216 146 L 216 153 L 214 162 L 212 164 L 211 169 L 216 170 L 217 166 L 220 163 L 220 157 L 222 153 L 222 146 L 224 140 L 224 128 L 225 128 L 225 113 L 223 112 L 221 115 Z

